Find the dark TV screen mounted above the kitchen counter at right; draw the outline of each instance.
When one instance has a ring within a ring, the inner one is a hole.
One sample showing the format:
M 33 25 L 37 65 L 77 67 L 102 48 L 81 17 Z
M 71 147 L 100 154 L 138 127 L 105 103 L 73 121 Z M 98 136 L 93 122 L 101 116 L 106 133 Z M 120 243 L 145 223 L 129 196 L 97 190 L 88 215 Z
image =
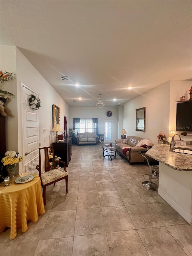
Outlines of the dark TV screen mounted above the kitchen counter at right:
M 192 131 L 192 101 L 177 103 L 176 131 Z

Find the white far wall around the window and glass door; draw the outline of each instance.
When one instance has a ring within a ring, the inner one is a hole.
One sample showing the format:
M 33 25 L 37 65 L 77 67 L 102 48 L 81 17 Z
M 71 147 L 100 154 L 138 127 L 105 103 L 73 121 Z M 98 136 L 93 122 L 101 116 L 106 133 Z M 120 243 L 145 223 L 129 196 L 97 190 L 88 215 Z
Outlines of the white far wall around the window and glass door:
M 112 111 L 112 116 L 107 116 L 107 111 Z M 73 118 L 98 118 L 99 134 L 104 134 L 104 119 L 113 119 L 114 133 L 113 140 L 118 138 L 118 122 L 116 107 L 70 107 L 69 109 L 69 128 L 73 128 Z

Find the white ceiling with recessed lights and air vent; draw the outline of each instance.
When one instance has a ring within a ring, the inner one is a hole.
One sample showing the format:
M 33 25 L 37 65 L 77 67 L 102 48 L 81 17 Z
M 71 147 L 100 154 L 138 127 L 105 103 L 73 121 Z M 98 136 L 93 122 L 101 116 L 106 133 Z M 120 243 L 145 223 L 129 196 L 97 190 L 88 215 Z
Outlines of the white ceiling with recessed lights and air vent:
M 19 47 L 69 106 L 95 106 L 99 93 L 122 105 L 192 77 L 191 1 L 1 1 L 0 11 L 1 44 Z

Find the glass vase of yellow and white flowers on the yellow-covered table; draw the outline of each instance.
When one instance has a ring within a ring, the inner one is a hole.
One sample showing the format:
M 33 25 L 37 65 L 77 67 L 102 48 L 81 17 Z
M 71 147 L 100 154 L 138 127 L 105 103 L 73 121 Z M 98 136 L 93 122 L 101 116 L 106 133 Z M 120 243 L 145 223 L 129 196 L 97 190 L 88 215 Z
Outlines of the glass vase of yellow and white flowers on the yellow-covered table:
M 23 160 L 23 157 L 13 150 L 9 150 L 5 153 L 5 157 L 2 158 L 3 165 L 7 165 L 7 171 L 10 175 L 10 180 L 14 181 L 16 179 L 15 172 L 17 164 Z

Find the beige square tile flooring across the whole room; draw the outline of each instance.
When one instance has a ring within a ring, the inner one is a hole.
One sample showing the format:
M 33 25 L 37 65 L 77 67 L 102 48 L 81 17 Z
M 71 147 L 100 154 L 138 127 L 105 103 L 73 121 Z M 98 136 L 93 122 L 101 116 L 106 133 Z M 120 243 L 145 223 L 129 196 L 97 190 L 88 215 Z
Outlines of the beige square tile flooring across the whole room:
M 0 255 L 192 255 L 192 226 L 156 191 L 143 188 L 146 165 L 119 155 L 103 158 L 102 145 L 72 146 L 65 181 L 46 188 L 46 213 L 25 233 L 2 233 Z

